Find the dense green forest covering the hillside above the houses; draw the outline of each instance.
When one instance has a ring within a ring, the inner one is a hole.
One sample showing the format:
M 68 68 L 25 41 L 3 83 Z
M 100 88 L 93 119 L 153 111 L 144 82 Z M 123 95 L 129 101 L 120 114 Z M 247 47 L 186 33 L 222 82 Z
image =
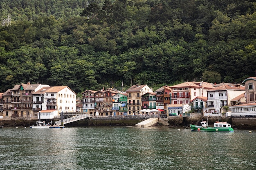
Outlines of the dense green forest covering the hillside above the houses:
M 256 70 L 254 0 L 1 0 L 0 91 L 14 84 L 154 90 Z

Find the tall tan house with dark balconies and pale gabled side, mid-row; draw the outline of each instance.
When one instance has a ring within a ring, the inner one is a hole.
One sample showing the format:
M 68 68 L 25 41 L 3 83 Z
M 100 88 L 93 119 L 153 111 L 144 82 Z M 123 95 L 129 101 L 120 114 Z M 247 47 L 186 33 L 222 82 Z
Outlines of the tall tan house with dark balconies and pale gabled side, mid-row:
M 141 110 L 141 95 L 145 93 L 153 92 L 148 85 L 133 85 L 126 90 L 128 101 L 128 115 L 139 115 Z

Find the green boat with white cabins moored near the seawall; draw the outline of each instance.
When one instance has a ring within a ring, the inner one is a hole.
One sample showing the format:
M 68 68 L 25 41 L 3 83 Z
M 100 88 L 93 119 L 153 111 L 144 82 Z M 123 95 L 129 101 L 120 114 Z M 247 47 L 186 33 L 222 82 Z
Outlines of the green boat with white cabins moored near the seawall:
M 207 131 L 207 132 L 234 132 L 234 129 L 227 122 L 216 121 L 214 127 L 208 126 L 208 121 L 201 121 L 201 126 L 190 125 L 192 131 Z

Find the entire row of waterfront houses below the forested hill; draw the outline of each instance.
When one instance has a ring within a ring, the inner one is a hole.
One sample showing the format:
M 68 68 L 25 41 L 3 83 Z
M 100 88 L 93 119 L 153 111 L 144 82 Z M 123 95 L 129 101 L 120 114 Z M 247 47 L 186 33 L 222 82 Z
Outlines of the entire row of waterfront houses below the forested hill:
M 82 93 L 81 105 L 68 86 L 19 84 L 0 94 L 0 118 L 35 117 L 61 112 L 83 112 L 93 116 L 150 114 L 144 109 L 157 109 L 168 116 L 189 116 L 203 113 L 220 116 L 256 115 L 256 77 L 240 84 L 184 82 L 162 86 L 153 91 L 148 85 L 133 85 L 125 92 L 108 88 Z M 49 118 L 49 117 L 48 117 Z M 52 117 L 53 118 L 53 117 Z

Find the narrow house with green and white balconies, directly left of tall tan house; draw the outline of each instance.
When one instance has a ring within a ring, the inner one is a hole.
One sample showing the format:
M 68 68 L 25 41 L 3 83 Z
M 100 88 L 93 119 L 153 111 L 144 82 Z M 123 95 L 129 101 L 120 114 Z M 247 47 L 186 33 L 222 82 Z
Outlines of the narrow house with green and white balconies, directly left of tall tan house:
M 112 97 L 112 112 L 114 116 L 127 115 L 127 93 L 117 93 Z

